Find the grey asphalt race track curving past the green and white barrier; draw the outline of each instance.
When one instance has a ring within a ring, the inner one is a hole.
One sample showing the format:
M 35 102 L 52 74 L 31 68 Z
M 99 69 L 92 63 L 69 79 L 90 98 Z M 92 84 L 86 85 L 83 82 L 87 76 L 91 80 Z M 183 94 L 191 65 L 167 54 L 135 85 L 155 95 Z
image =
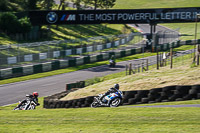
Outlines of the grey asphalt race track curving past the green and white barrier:
M 148 33 L 150 29 L 148 25 L 139 25 L 139 28 L 144 33 Z M 156 29 L 157 31 L 169 30 L 163 26 L 157 26 Z M 150 58 L 151 60 L 156 60 L 156 57 Z M 34 91 L 39 92 L 40 97 L 62 92 L 65 90 L 66 83 L 121 72 L 125 70 L 125 65 L 130 62 L 136 63 L 138 60 L 119 62 L 116 68 L 109 68 L 108 65 L 103 65 L 40 79 L 0 85 L 0 106 L 17 103 L 19 100 L 24 99 L 26 94 Z

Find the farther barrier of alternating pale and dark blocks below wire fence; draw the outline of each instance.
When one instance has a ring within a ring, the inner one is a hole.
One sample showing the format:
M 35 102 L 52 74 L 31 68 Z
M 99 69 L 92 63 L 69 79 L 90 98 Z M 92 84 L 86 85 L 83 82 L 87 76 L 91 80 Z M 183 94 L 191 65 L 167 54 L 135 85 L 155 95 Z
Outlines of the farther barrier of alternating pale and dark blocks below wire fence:
M 37 53 L 37 54 L 29 54 L 29 55 L 21 55 L 20 57 L 7 57 L 0 59 L 1 64 L 15 64 L 24 61 L 38 61 L 40 59 L 47 59 L 47 58 L 60 58 L 67 55 L 79 55 L 86 52 L 94 52 L 98 50 L 103 50 L 111 47 L 116 47 L 122 44 L 125 44 L 132 40 L 133 34 L 131 33 L 128 37 L 118 38 L 119 40 L 112 40 L 110 43 L 105 44 L 88 44 L 88 45 L 81 45 L 81 46 L 74 46 L 73 48 L 62 50 L 62 51 L 48 51 L 46 53 Z M 123 43 L 121 43 L 123 40 Z M 45 43 L 45 42 L 44 42 Z M 38 44 L 37 44 L 38 45 Z M 17 45 L 18 46 L 18 45 Z M 97 47 L 98 46 L 98 47 Z

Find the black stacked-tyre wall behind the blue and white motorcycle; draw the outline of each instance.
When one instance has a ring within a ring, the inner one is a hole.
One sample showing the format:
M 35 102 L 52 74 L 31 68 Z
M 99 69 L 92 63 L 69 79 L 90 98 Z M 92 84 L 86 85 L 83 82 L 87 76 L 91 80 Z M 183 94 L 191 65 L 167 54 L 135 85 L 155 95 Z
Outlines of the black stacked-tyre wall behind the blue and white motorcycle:
M 69 101 L 59 100 L 60 98 L 66 96 L 70 92 L 78 90 L 78 89 L 72 89 L 73 86 L 77 87 L 78 84 L 81 84 L 81 82 L 68 85 L 67 87 L 68 89 L 66 89 L 65 92 L 45 97 L 44 108 L 90 107 L 91 103 L 93 102 L 94 96 L 89 96 Z M 123 91 L 123 94 L 124 98 L 122 101 L 122 105 L 194 100 L 194 99 L 200 99 L 200 85 L 184 85 L 184 86 L 174 85 L 174 86 L 166 86 L 163 88 L 154 88 L 151 90 Z

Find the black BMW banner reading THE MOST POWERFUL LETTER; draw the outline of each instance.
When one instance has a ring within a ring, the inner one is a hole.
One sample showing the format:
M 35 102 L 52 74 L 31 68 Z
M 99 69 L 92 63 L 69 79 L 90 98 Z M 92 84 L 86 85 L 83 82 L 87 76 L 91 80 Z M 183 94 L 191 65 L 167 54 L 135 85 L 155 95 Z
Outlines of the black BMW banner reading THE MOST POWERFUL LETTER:
M 154 24 L 195 22 L 200 7 L 121 9 L 121 10 L 65 10 L 29 11 L 33 25 L 50 24 Z

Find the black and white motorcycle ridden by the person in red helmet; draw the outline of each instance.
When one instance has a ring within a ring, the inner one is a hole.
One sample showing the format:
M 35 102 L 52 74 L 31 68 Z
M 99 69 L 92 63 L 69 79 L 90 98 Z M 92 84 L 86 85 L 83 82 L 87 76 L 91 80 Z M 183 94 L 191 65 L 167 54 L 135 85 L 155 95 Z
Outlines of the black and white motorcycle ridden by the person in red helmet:
M 34 110 L 38 104 L 33 101 L 32 95 L 26 95 L 26 97 L 28 98 L 24 102 L 19 101 L 13 110 Z

